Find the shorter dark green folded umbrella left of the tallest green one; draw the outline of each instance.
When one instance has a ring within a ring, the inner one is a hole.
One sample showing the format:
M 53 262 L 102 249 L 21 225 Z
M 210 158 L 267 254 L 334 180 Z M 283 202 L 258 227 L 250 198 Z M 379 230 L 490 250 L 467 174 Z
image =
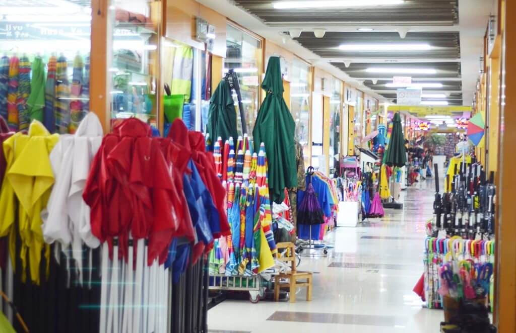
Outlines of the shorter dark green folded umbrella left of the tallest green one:
M 226 80 L 220 81 L 209 100 L 209 113 L 206 132 L 215 143 L 218 137 L 225 142 L 230 137 L 237 138 L 236 111 L 231 96 L 231 89 Z

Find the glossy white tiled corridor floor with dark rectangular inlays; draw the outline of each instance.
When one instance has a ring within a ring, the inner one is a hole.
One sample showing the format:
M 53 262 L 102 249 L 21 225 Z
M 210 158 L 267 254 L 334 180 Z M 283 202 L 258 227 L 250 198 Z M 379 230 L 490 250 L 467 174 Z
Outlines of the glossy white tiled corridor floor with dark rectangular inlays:
M 433 182 L 402 191 L 403 210 L 385 210 L 357 228 L 337 228 L 326 258 L 302 257 L 314 275 L 312 302 L 224 301 L 208 312 L 216 332 L 430 333 L 443 313 L 422 307 L 412 292 L 423 272 L 425 222 L 432 216 Z

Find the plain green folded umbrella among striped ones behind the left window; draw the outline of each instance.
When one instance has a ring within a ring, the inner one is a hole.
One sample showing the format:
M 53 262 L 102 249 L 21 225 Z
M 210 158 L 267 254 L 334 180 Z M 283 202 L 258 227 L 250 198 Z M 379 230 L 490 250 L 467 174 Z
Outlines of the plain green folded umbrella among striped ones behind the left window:
M 27 99 L 27 117 L 30 122 L 43 122 L 45 108 L 45 64 L 41 57 L 34 58 L 32 79 L 30 81 L 30 95 Z

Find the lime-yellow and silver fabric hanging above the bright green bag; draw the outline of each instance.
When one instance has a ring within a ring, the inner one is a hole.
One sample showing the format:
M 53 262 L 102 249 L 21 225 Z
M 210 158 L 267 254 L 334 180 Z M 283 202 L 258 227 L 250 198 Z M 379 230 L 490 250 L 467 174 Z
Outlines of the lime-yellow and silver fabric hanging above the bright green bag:
M 190 93 L 193 75 L 193 49 L 189 46 L 175 48 L 174 65 L 172 70 L 172 95 L 184 95 L 185 103 L 190 103 Z

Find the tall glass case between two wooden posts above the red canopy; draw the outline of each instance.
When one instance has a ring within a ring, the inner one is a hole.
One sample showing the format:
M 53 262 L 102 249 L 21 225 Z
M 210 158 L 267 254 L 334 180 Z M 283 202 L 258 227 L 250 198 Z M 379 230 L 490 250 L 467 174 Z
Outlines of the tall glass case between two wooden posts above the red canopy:
M 111 127 L 132 116 L 158 127 L 159 8 L 160 2 L 152 0 L 110 2 L 107 63 Z

